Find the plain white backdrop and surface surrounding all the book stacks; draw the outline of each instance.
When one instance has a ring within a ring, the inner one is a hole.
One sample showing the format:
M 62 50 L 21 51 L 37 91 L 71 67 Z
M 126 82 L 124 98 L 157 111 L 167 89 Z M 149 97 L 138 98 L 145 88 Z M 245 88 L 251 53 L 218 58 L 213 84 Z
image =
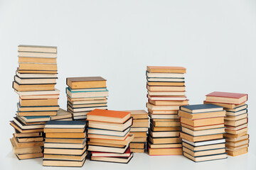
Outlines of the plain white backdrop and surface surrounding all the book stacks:
M 212 91 L 249 94 L 248 154 L 202 163 L 135 154 L 129 164 L 87 160 L 83 168 L 256 169 L 256 1 L 0 0 L 0 169 L 53 169 L 41 159 L 18 161 L 11 151 L 9 120 L 18 102 L 11 84 L 20 44 L 58 47 L 62 108 L 66 77 L 102 76 L 109 109 L 146 109 L 146 65 L 186 67 L 191 104 Z

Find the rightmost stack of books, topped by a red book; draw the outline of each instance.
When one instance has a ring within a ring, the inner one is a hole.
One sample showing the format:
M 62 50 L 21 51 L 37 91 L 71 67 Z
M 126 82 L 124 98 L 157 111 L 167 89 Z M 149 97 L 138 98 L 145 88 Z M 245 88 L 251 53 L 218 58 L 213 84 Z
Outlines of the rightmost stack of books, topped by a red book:
M 225 116 L 226 152 L 230 156 L 238 156 L 248 152 L 249 135 L 247 133 L 248 113 L 247 94 L 235 94 L 215 91 L 206 95 L 205 103 L 223 106 Z

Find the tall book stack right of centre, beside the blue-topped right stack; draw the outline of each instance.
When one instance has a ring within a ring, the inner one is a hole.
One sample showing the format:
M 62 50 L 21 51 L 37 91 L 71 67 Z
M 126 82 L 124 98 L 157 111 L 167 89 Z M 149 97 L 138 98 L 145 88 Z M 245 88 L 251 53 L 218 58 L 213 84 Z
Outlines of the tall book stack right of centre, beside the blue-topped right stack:
M 188 105 L 185 95 L 184 67 L 146 68 L 150 129 L 149 155 L 182 154 L 179 106 Z

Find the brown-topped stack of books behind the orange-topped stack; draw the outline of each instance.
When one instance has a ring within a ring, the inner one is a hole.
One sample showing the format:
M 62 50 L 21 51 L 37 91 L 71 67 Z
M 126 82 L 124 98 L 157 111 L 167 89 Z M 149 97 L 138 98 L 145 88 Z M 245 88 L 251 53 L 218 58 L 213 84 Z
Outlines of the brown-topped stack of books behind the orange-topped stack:
M 107 86 L 102 77 L 69 77 L 67 108 L 74 120 L 86 120 L 86 115 L 95 108 L 107 109 Z

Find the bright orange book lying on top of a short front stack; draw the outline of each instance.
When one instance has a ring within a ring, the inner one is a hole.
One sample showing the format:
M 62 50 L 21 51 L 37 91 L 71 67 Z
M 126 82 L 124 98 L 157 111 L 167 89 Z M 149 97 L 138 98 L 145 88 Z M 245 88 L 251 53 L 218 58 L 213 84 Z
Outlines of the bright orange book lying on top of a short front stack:
M 131 118 L 131 113 L 127 111 L 110 111 L 95 109 L 87 113 L 87 120 L 109 122 L 109 123 L 124 123 Z

